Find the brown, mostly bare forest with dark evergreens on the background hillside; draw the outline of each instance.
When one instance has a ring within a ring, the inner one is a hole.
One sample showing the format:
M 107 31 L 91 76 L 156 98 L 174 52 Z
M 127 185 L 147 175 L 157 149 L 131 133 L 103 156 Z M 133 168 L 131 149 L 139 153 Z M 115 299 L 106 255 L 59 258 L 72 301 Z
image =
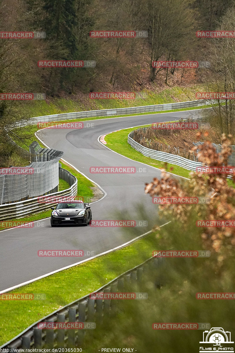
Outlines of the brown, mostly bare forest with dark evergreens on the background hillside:
M 68 98 L 77 92 L 141 91 L 165 82 L 175 69 L 157 60 L 210 61 L 208 86 L 234 91 L 235 39 L 197 38 L 197 30 L 233 30 L 233 0 L 1 0 L 1 31 L 44 31 L 44 39 L 0 38 L 0 93 L 43 92 Z M 145 30 L 146 38 L 92 38 L 92 30 Z M 95 60 L 95 68 L 39 68 L 38 60 Z M 177 69 L 178 70 L 178 69 Z M 109 89 L 108 89 L 109 88 Z M 232 131 L 233 102 L 216 112 Z M 223 115 L 223 116 L 222 116 Z M 25 118 L 14 101 L 0 100 L 0 154 L 5 127 Z M 222 125 L 221 125 L 222 126 Z M 1 161 L 3 162 L 3 161 Z

